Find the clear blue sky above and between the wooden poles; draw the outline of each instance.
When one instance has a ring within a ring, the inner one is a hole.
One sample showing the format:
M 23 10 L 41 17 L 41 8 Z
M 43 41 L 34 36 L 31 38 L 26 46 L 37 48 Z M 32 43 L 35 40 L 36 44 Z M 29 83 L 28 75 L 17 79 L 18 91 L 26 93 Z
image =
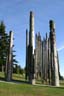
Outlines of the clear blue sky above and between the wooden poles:
M 0 0 L 0 21 L 6 32 L 14 32 L 16 59 L 25 67 L 26 29 L 29 30 L 29 12 L 34 12 L 35 33 L 42 39 L 49 34 L 49 20 L 56 25 L 56 43 L 59 51 L 60 72 L 64 76 L 64 0 Z

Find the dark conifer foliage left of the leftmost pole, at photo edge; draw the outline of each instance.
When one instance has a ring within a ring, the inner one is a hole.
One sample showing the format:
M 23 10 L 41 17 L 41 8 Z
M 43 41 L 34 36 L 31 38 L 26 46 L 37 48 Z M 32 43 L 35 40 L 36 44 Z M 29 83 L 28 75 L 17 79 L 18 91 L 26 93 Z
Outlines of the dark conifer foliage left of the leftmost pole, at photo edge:
M 0 64 L 6 63 L 6 55 L 8 52 L 9 36 L 5 32 L 5 25 L 3 21 L 0 23 Z

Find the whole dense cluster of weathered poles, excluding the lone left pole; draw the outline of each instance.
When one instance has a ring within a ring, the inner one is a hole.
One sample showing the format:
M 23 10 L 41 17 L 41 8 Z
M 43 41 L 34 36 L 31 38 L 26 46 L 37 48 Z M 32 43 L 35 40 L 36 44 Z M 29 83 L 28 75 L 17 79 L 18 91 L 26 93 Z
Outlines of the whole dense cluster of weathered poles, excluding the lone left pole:
M 34 34 L 34 14 L 30 12 L 29 33 L 26 30 L 26 79 L 35 84 L 41 78 L 45 84 L 59 86 L 59 62 L 56 48 L 55 24 L 49 21 L 49 37 Z M 35 39 L 34 39 L 35 38 Z

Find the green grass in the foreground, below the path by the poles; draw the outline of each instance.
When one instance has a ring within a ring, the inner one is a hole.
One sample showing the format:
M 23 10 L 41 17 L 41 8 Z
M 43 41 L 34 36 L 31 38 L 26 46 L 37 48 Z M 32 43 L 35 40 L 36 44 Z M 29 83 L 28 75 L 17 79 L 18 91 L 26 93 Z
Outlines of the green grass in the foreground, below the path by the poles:
M 64 88 L 0 82 L 0 96 L 64 96 Z

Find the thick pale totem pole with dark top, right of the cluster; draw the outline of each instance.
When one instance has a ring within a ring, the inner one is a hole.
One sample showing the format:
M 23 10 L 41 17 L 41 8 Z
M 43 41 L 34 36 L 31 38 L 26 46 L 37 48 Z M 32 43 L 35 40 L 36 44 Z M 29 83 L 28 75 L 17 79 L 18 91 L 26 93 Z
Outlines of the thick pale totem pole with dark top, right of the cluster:
M 52 85 L 59 86 L 58 58 L 56 49 L 55 24 L 50 20 L 51 71 Z

